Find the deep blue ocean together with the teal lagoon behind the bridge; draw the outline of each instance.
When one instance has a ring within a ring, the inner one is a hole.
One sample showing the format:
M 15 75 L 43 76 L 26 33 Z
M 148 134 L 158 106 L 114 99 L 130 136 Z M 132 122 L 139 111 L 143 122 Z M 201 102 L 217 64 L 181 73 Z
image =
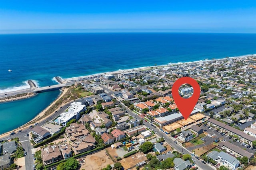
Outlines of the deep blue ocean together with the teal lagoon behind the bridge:
M 70 78 L 142 66 L 249 54 L 256 54 L 256 34 L 2 34 L 0 93 L 28 88 L 27 80 L 34 80 L 37 86 L 49 86 L 57 84 L 55 76 Z M 8 72 L 8 69 L 12 72 Z M 47 92 L 29 100 L 0 104 L 0 121 L 8 122 L 0 124 L 0 133 L 22 125 L 21 122 L 26 123 L 58 95 L 59 92 Z M 38 102 L 31 105 L 34 106 L 31 109 L 29 103 L 34 100 Z M 11 113 L 14 117 L 8 116 Z

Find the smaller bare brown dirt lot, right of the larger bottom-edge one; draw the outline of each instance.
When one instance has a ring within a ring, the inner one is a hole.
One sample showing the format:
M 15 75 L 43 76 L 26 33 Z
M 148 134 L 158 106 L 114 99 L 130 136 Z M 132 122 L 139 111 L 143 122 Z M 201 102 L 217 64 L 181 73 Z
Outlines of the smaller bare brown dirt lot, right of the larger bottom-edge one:
M 138 152 L 132 156 L 120 160 L 119 162 L 122 164 L 124 169 L 128 169 L 138 164 L 139 162 L 142 162 L 143 160 L 147 160 L 147 158 L 144 156 L 144 153 Z

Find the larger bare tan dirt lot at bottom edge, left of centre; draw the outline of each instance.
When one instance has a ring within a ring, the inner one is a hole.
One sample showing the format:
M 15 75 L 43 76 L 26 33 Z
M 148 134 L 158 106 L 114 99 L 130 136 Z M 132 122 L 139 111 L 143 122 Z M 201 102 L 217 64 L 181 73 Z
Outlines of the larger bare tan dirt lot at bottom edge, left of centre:
M 106 155 L 105 150 L 101 150 L 92 155 L 82 157 L 82 160 L 84 162 L 82 162 L 82 166 L 80 169 L 85 170 L 100 170 L 107 167 L 108 164 L 114 164 L 110 157 Z

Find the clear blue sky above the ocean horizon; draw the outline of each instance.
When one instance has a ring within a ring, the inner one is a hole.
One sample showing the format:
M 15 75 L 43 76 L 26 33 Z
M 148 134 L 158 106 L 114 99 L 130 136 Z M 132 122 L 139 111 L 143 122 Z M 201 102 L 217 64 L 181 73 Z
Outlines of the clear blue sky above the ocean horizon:
M 0 33 L 256 33 L 256 0 L 0 0 Z

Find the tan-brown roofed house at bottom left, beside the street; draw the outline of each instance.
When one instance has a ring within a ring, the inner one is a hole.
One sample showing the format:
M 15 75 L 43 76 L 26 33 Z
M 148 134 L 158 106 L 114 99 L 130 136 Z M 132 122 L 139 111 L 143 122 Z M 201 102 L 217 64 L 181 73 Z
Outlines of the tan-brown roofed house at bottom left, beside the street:
M 57 145 L 47 145 L 47 147 L 43 147 L 41 154 L 44 166 L 62 160 L 60 149 Z

